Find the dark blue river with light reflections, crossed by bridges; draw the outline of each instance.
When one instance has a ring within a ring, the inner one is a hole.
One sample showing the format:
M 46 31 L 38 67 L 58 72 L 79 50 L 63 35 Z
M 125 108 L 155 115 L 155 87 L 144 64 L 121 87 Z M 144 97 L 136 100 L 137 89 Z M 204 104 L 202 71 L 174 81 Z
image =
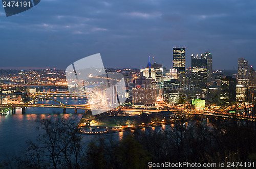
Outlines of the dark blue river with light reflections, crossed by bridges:
M 64 104 L 85 104 L 86 99 L 74 100 L 72 97 L 52 97 L 52 99 L 58 100 Z M 39 104 L 56 104 L 52 100 L 39 100 Z M 77 123 L 82 117 L 84 110 L 77 110 L 78 114 L 74 114 L 74 109 L 67 108 L 67 114 L 62 114 L 62 108 L 41 108 L 41 107 L 28 107 L 26 108 L 26 114 L 22 114 L 22 109 L 17 108 L 15 114 L 9 113 L 7 116 L 0 116 L 0 160 L 6 158 L 12 158 L 17 155 L 23 147 L 26 146 L 26 141 L 29 139 L 35 139 L 39 131 L 37 129 L 37 119 L 53 118 L 71 116 Z M 161 127 L 156 127 L 161 129 Z M 155 127 L 152 127 L 154 130 Z M 141 129 L 144 130 L 144 129 Z M 104 134 L 105 136 L 112 135 L 117 139 L 121 139 L 125 134 L 132 131 L 118 132 L 112 134 Z M 82 135 L 82 142 L 89 142 L 96 135 Z

